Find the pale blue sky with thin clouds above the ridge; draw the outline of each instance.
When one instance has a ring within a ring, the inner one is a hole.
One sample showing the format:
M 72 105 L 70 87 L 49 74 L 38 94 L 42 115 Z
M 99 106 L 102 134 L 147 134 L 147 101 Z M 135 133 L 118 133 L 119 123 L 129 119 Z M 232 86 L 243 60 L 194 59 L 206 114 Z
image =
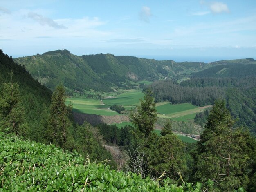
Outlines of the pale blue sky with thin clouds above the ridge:
M 157 60 L 256 59 L 256 0 L 0 0 L 0 49 Z

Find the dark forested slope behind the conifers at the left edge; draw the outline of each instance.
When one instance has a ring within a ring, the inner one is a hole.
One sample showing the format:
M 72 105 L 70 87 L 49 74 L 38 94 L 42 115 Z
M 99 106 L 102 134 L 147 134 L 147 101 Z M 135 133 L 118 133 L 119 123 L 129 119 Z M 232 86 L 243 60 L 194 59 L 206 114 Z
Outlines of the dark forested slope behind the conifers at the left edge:
M 24 66 L 17 65 L 0 49 L 0 92 L 3 83 L 11 83 L 12 72 L 13 83 L 18 84 L 22 105 L 25 107 L 27 137 L 43 142 L 42 132 L 49 112 L 52 92 L 34 80 Z

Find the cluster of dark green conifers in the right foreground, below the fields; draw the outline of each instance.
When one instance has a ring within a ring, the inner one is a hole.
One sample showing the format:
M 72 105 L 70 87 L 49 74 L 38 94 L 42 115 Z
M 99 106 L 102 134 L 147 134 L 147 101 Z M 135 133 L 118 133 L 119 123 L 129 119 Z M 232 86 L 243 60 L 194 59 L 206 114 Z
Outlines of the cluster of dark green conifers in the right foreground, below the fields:
M 205 188 L 213 182 L 209 191 L 233 191 L 240 186 L 256 190 L 256 139 L 248 129 L 233 127 L 236 120 L 225 100 L 216 100 L 207 112 L 201 140 L 196 144 L 183 143 L 173 134 L 171 121 L 166 122 L 160 136 L 153 132 L 157 119 L 153 100 L 153 92 L 146 90 L 141 104 L 130 114 L 134 127 L 97 126 L 106 142 L 130 151 L 127 170 L 144 178 L 164 173 L 177 185 L 182 182 L 179 178 L 199 181 Z

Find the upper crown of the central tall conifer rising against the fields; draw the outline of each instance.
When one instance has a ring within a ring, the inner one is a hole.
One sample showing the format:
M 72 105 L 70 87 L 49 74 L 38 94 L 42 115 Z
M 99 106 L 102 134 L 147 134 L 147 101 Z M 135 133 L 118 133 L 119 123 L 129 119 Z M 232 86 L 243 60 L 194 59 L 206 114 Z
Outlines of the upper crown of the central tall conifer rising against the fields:
M 144 100 L 140 99 L 141 105 L 137 107 L 137 111 L 130 114 L 132 124 L 139 129 L 145 138 L 148 138 L 157 121 L 155 103 L 153 100 L 153 92 L 147 89 Z

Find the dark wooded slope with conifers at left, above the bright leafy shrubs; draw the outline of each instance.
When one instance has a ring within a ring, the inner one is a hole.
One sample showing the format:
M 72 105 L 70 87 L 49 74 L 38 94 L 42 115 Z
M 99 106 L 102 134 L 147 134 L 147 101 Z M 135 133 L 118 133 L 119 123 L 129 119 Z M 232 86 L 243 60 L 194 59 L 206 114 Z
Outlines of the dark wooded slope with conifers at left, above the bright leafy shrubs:
M 0 131 L 76 150 L 84 157 L 89 154 L 93 161 L 112 159 L 96 129 L 74 123 L 66 97 L 63 86 L 52 94 L 0 50 Z M 114 161 L 110 163 L 116 167 Z

